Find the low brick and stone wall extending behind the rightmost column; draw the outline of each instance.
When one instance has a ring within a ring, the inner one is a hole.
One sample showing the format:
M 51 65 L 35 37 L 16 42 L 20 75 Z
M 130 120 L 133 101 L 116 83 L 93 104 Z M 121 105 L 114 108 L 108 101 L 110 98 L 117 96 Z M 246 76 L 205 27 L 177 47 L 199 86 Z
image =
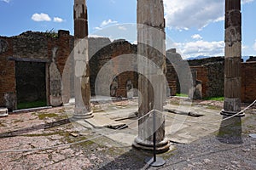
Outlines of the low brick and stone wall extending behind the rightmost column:
M 202 97 L 224 96 L 224 59 L 216 59 L 217 62 L 212 62 L 212 58 L 200 60 L 192 60 L 192 65 L 196 63 L 204 63 L 204 65 L 191 66 L 191 69 L 196 70 L 196 79 L 202 81 Z M 241 63 L 241 102 L 251 103 L 255 100 L 255 87 L 256 62 Z

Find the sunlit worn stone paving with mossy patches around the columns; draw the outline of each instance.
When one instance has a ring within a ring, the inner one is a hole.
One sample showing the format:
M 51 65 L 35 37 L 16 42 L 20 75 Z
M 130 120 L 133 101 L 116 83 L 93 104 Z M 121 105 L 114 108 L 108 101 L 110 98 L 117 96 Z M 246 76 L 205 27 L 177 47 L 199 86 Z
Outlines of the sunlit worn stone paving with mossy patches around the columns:
M 221 122 L 223 117 L 219 115 L 222 102 L 196 101 L 191 107 L 189 100 L 183 102 L 183 105 L 179 105 L 180 99 L 171 99 L 165 106 L 166 136 L 173 148 L 177 143 L 190 144 L 220 133 L 220 127 L 224 125 Z M 69 119 L 73 105 L 18 112 L 0 118 L 0 169 L 100 169 L 109 162 L 125 163 L 116 162 L 118 158 L 143 167 L 143 158 L 148 153 L 131 148 L 137 135 L 137 100 L 104 102 L 92 108 L 94 117 L 85 121 Z M 189 116 L 186 116 L 187 113 Z M 238 133 L 241 133 L 241 129 L 242 133 L 256 132 L 255 109 L 248 113 L 241 118 Z M 229 123 L 234 124 L 228 122 L 225 126 Z M 128 127 L 115 129 L 123 125 Z M 82 140 L 84 142 L 80 144 L 55 149 L 1 151 L 45 148 Z M 172 157 L 172 151 L 162 156 Z

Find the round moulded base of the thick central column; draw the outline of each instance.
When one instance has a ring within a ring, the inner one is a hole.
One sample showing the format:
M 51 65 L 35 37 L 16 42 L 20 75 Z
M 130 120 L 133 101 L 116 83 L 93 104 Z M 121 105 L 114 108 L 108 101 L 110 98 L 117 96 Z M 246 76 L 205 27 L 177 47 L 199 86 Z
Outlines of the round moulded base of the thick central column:
M 138 137 L 134 139 L 133 147 L 139 149 L 139 150 L 146 150 L 146 151 L 153 151 L 154 150 L 154 144 L 153 141 L 143 141 L 142 139 L 139 139 Z M 168 139 L 162 140 L 160 143 L 156 144 L 156 152 L 157 153 L 164 153 L 168 150 L 170 150 L 170 141 Z

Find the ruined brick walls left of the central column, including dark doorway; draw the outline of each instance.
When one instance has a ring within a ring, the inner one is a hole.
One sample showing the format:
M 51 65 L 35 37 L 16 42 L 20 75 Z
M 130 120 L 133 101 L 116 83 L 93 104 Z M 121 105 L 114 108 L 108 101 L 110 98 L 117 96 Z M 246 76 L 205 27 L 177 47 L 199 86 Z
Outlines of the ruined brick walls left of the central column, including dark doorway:
M 26 31 L 15 37 L 0 37 L 0 107 L 13 111 L 19 103 L 38 100 L 57 106 L 73 98 L 73 42 L 69 31 Z M 121 54 L 137 54 L 137 46 L 103 37 L 90 37 L 89 43 L 90 88 L 95 95 L 96 76 L 102 66 Z M 127 91 L 137 88 L 134 71 L 112 78 L 108 94 L 112 97 L 129 97 Z

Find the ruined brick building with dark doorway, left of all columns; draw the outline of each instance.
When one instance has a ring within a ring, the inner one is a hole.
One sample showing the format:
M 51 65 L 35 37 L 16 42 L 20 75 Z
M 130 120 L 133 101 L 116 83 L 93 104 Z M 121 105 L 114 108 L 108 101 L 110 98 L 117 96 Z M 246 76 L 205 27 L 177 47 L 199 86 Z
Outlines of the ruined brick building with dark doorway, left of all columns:
M 72 49 L 70 39 L 69 31 L 0 37 L 0 106 L 15 110 L 17 103 L 37 100 L 51 105 L 50 96 L 61 96 L 58 79 Z

